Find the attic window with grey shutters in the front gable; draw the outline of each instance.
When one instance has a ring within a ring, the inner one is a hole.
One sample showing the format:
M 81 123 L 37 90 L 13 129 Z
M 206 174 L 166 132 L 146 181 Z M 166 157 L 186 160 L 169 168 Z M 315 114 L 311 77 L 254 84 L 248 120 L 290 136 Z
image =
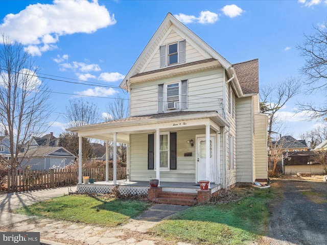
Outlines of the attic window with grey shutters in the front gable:
M 159 48 L 160 67 L 185 62 L 185 40 L 164 44 Z

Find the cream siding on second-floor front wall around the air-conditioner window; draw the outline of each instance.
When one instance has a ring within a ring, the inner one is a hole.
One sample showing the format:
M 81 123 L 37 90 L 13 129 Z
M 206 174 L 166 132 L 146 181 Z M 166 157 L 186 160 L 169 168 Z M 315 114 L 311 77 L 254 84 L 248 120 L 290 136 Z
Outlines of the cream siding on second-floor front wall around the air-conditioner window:
M 172 79 L 133 84 L 130 92 L 130 115 L 148 115 L 160 112 L 158 110 L 158 85 L 178 80 L 188 80 L 187 109 L 184 110 L 216 110 L 222 114 L 223 69 L 221 68 Z

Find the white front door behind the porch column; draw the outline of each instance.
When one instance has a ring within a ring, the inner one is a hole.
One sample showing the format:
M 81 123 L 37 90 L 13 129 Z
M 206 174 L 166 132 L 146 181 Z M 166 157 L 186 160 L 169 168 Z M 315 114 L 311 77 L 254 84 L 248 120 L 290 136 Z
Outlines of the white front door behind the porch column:
M 210 179 L 209 181 L 215 182 L 216 168 L 215 168 L 215 137 L 210 137 Z M 200 180 L 207 180 L 205 176 L 205 137 L 197 138 L 197 182 Z

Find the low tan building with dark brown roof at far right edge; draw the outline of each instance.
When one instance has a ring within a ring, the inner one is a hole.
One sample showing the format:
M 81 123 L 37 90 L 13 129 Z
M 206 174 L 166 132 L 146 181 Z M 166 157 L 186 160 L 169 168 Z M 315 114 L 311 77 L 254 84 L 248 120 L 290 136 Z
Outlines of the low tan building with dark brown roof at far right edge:
M 311 173 L 313 175 L 323 175 L 323 166 L 320 163 L 311 161 L 311 157 L 316 153 L 307 152 L 289 152 L 284 156 L 285 175 L 296 175 L 297 173 Z

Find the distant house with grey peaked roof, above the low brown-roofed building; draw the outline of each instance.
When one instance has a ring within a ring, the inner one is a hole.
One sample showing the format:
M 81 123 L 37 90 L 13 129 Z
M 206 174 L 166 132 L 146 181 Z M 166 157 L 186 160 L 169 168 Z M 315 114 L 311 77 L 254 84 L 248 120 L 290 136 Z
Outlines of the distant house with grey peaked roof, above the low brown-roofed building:
M 278 152 L 307 152 L 308 146 L 306 140 L 297 140 L 292 136 L 282 136 L 277 142 L 272 141 L 274 149 Z

